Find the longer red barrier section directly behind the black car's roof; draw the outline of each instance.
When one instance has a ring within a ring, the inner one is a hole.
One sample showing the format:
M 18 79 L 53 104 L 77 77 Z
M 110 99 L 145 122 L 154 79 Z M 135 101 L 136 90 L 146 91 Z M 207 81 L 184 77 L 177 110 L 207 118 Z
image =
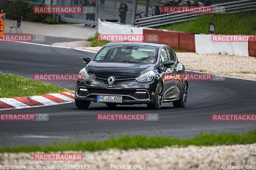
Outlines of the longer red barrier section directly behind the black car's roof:
M 148 30 L 149 30 L 149 34 L 157 34 L 159 37 L 159 40 L 153 43 L 165 44 L 172 47 L 173 49 L 179 49 L 179 45 L 180 45 L 179 34 L 183 32 L 169 31 L 169 30 L 163 31 L 163 30 L 143 29 L 143 34 L 148 35 Z

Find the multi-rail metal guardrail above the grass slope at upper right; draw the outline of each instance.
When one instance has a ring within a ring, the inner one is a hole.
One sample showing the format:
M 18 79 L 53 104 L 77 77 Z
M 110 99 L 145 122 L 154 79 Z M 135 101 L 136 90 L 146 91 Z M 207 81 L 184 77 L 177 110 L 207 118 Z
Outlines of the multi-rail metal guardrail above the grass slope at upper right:
M 241 0 L 241 1 L 222 3 L 222 4 L 214 4 L 212 5 L 212 8 L 214 9 L 216 6 L 225 6 L 225 13 L 253 11 L 253 10 L 256 10 L 256 0 Z M 166 24 L 172 24 L 172 23 L 196 19 L 200 15 L 204 15 L 204 13 L 162 14 L 162 15 L 156 15 L 152 17 L 135 19 L 135 25 L 146 26 L 146 27 L 162 26 Z

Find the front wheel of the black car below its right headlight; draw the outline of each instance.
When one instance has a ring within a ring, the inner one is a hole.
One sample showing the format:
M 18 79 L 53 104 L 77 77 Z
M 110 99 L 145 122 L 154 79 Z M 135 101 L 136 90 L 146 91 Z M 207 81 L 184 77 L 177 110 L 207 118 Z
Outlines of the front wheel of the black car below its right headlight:
M 155 95 L 155 101 L 154 103 L 147 104 L 148 109 L 160 109 L 163 104 L 163 85 L 162 83 L 159 83 L 156 88 L 156 95 Z

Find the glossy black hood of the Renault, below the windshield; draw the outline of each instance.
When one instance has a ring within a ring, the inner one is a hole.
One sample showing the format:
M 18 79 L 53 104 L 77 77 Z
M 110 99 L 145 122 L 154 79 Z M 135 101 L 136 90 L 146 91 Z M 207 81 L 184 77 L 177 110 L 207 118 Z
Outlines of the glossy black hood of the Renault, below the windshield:
M 138 77 L 147 71 L 153 70 L 154 66 L 155 64 L 91 61 L 86 66 L 86 71 L 90 75 L 103 77 L 110 75 L 116 78 Z

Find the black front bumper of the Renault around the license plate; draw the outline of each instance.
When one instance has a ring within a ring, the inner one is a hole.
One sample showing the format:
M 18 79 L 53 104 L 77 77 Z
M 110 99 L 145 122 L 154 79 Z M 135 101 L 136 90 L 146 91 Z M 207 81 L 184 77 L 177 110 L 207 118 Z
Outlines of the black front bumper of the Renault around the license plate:
M 97 95 L 115 95 L 123 97 L 122 103 L 118 104 L 153 103 L 157 83 L 155 81 L 140 83 L 136 80 L 129 79 L 128 81 L 116 84 L 112 88 L 107 86 L 106 82 L 96 79 L 88 79 L 86 81 L 77 80 L 75 97 L 78 100 L 97 102 Z M 81 91 L 80 88 L 86 89 L 87 91 Z

